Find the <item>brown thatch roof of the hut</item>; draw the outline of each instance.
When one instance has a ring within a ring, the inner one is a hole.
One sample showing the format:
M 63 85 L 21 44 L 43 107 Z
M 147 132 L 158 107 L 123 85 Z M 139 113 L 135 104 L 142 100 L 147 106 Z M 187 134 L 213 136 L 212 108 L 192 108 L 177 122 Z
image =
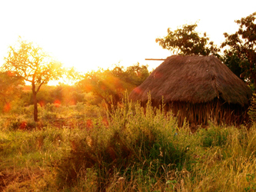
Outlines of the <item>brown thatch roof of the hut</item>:
M 214 55 L 168 57 L 151 75 L 135 88 L 129 98 L 155 104 L 185 101 L 204 103 L 222 98 L 228 104 L 248 104 L 251 89 Z

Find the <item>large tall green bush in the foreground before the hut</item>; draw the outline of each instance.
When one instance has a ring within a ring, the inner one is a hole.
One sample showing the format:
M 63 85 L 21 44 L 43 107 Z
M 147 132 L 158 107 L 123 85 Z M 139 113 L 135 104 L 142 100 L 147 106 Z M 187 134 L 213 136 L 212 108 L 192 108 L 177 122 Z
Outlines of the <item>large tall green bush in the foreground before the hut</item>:
M 175 141 L 176 121 L 169 121 L 171 114 L 165 118 L 163 111 L 157 110 L 154 115 L 151 107 L 147 110 L 144 114 L 137 104 L 133 114 L 131 104 L 126 104 L 109 114 L 108 127 L 96 121 L 93 131 L 82 131 L 72 139 L 71 153 L 65 154 L 57 165 L 58 182 L 75 184 L 80 170 L 94 168 L 98 190 L 102 190 L 115 170 L 128 180 L 135 177 L 131 169 L 141 169 L 143 177 L 151 178 L 175 168 L 181 170 L 189 157 L 187 147 Z

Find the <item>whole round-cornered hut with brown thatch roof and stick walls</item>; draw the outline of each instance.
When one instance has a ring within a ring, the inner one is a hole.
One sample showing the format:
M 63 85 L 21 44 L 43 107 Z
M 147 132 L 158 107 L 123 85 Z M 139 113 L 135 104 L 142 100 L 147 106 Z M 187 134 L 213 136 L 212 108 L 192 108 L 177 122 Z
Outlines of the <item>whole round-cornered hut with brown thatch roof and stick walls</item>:
M 181 126 L 190 124 L 242 124 L 248 120 L 247 109 L 252 91 L 214 55 L 168 57 L 135 88 L 129 98 L 159 106 L 178 114 Z

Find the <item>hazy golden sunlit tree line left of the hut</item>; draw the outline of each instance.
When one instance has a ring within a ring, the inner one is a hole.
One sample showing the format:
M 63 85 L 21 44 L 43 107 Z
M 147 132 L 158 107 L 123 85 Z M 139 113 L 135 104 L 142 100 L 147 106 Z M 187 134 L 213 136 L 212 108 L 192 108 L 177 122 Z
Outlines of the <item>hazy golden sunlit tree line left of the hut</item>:
M 34 105 L 34 121 L 38 121 L 38 106 L 45 104 L 72 105 L 118 104 L 125 91 L 131 91 L 148 78 L 148 65 L 139 63 L 124 68 L 98 69 L 78 74 L 74 68 L 63 68 L 42 48 L 18 38 L 18 44 L 10 46 L 8 57 L 0 71 L 0 108 L 9 111 L 11 103 L 19 106 Z M 48 81 L 60 78 L 75 79 L 74 85 L 46 86 Z M 25 90 L 28 88 L 28 90 Z

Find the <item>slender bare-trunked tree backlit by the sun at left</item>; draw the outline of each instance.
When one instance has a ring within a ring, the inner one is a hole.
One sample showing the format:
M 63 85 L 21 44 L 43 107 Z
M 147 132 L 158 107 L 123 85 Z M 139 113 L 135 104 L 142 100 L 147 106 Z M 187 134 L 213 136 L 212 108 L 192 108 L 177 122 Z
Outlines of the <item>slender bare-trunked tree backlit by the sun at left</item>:
M 42 48 L 33 45 L 32 42 L 19 38 L 18 47 L 9 47 L 8 57 L 5 58 L 2 68 L 32 84 L 34 121 L 38 121 L 38 91 L 42 84 L 62 78 L 65 74 L 62 63 L 54 61 Z

